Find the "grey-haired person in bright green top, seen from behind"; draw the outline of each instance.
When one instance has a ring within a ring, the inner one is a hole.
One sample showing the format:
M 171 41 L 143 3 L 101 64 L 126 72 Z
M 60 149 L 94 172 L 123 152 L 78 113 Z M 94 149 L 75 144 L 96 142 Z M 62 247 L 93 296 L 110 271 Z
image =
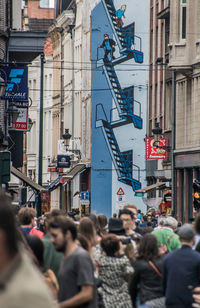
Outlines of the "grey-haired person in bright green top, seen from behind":
M 157 238 L 161 253 L 166 254 L 181 247 L 179 237 L 174 233 L 177 225 L 177 220 L 169 216 L 164 220 L 162 228 L 157 228 L 152 232 Z

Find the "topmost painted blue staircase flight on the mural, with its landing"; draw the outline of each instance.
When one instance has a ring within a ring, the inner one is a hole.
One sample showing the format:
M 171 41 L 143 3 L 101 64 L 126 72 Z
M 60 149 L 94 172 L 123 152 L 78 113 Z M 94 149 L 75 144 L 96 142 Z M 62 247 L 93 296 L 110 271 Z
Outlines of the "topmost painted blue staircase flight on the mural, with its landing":
M 120 53 L 122 54 L 121 57 L 113 61 L 113 65 L 131 58 L 134 58 L 136 63 L 143 63 L 144 56 L 141 50 L 141 38 L 135 35 L 135 23 L 119 28 L 116 22 L 116 9 L 113 0 L 102 0 L 102 3 L 119 46 Z M 139 41 L 139 48 L 137 46 L 138 44 L 136 44 L 136 39 Z

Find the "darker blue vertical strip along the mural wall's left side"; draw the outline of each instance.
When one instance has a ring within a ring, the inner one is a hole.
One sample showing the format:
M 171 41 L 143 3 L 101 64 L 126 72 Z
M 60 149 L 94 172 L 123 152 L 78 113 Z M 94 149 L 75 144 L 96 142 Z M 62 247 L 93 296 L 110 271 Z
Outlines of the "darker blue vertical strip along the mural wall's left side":
M 101 129 L 96 129 L 96 106 L 103 104 L 109 115 L 112 108 L 112 95 L 102 69 L 96 68 L 97 47 L 103 41 L 103 34 L 112 35 L 109 22 L 104 18 L 105 11 L 100 2 L 92 12 L 92 170 L 91 170 L 91 209 L 111 216 L 112 204 L 112 160 Z M 103 17 L 103 20 L 102 20 Z M 99 55 L 102 50 L 99 50 Z M 102 55 L 102 54 L 101 54 Z M 101 90 L 105 89 L 105 90 Z

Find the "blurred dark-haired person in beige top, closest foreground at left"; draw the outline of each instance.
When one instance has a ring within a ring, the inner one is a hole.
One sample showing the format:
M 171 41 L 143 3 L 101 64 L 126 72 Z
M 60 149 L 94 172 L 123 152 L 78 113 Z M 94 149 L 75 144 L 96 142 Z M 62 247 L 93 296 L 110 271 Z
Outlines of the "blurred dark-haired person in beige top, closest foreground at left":
M 0 306 L 55 308 L 42 275 L 20 242 L 10 200 L 0 194 Z

